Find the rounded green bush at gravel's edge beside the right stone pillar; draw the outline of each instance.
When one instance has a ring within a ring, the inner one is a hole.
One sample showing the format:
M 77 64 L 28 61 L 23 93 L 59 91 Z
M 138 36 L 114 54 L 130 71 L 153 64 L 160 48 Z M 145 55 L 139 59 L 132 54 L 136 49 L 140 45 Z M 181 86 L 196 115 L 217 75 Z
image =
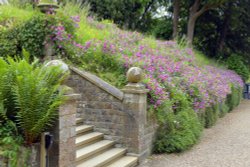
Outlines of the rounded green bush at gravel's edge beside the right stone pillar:
M 171 102 L 156 110 L 160 125 L 154 145 L 156 153 L 184 151 L 197 142 L 202 126 L 182 92 L 172 89 Z

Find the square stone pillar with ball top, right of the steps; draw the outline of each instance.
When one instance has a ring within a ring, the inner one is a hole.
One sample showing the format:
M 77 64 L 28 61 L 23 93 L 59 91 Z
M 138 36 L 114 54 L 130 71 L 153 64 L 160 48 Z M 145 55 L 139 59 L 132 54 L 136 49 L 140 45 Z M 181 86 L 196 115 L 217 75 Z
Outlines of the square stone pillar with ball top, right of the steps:
M 131 68 L 127 73 L 128 85 L 123 89 L 123 106 L 130 117 L 125 124 L 124 136 L 128 138 L 128 152 L 133 153 L 142 161 L 150 155 L 145 141 L 145 130 L 147 124 L 147 93 L 145 86 L 140 83 L 142 70 L 137 67 Z

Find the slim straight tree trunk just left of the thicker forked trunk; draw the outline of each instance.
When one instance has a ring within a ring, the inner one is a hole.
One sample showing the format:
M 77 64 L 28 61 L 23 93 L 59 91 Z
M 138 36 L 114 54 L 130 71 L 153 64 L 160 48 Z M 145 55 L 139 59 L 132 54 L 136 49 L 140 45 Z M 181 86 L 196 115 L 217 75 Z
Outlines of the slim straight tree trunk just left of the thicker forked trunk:
M 174 0 L 173 39 L 176 39 L 178 36 L 179 15 L 180 15 L 180 0 Z

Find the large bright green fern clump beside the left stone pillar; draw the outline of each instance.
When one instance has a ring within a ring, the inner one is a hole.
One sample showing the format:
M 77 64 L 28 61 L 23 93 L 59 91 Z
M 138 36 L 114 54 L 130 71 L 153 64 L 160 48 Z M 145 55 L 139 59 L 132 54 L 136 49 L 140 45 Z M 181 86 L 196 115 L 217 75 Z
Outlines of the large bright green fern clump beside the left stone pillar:
M 0 158 L 10 166 L 25 165 L 29 151 L 23 146 L 39 142 L 53 125 L 65 100 L 59 89 L 65 77 L 57 66 L 0 57 Z

